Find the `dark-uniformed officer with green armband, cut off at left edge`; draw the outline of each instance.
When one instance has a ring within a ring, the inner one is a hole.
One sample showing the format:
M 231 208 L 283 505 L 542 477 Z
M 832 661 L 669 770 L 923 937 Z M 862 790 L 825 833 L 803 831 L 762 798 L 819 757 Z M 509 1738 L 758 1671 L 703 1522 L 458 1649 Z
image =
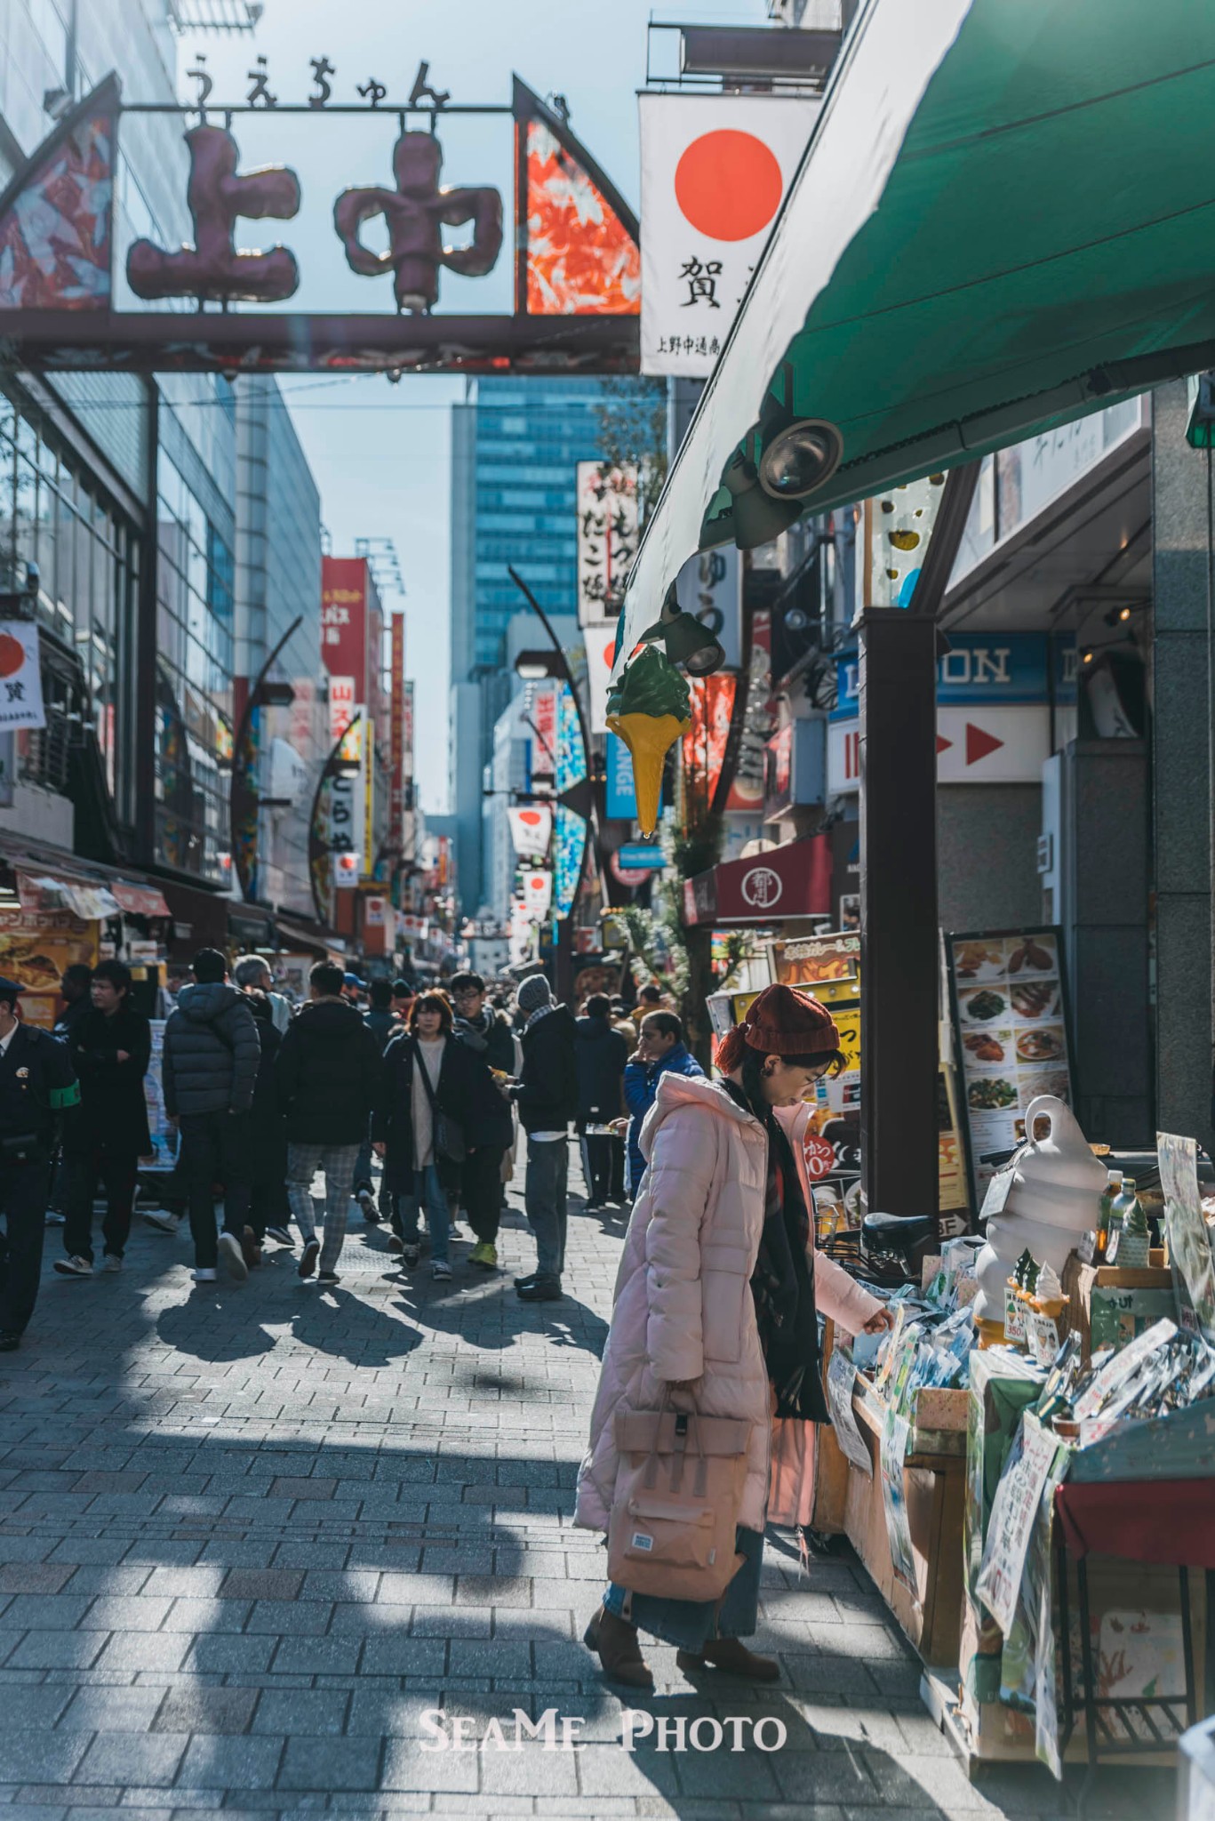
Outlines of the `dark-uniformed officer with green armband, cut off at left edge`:
M 0 1000 L 20 987 L 0 978 Z M 0 1038 L 0 1351 L 11 1353 L 38 1300 L 51 1155 L 60 1122 L 73 1116 L 80 1087 L 67 1045 L 16 1023 Z

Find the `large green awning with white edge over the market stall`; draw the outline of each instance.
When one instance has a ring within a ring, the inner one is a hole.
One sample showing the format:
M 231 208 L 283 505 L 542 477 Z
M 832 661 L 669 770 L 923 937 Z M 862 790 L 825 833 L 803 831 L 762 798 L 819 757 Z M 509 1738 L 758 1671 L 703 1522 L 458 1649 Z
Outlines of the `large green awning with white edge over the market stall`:
M 791 422 L 838 455 L 800 501 L 822 512 L 1215 364 L 1213 153 L 1215 5 L 867 0 L 647 528 L 621 650 L 698 543 L 796 515 L 754 479 Z

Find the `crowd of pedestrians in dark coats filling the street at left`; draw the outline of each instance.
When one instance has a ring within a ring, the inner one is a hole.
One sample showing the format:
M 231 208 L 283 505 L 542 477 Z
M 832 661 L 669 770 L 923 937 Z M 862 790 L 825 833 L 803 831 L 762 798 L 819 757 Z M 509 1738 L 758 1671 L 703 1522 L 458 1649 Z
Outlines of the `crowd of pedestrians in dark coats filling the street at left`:
M 62 1227 L 58 1275 L 122 1269 L 140 1164 L 153 1151 L 153 1038 L 133 989 L 122 961 L 69 967 L 47 1033 L 22 1022 L 20 982 L 0 980 L 0 1349 L 20 1344 L 33 1315 L 47 1224 Z M 463 1216 L 470 1266 L 492 1273 L 521 1133 L 536 1269 L 514 1289 L 523 1302 L 556 1302 L 570 1125 L 587 1207 L 628 1206 L 645 1169 L 641 1124 L 667 1073 L 703 1071 L 658 985 L 632 1009 L 592 994 L 574 1016 L 543 972 L 492 998 L 470 971 L 419 991 L 319 961 L 295 1007 L 262 956 L 230 969 L 220 951 L 200 949 L 160 1043 L 177 1164 L 155 1178 L 160 1206 L 144 1218 L 168 1233 L 188 1222 L 202 1286 L 220 1271 L 244 1280 L 268 1242 L 299 1249 L 301 1278 L 337 1284 L 352 1211 L 386 1226 L 403 1269 L 417 1269 L 428 1249 L 437 1282 L 454 1277 Z

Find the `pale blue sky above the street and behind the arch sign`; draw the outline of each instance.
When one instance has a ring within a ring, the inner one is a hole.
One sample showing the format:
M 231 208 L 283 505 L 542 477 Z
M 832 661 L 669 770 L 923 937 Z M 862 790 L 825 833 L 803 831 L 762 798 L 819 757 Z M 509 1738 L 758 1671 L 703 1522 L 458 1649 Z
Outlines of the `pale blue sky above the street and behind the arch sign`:
M 638 206 L 638 104 L 645 86 L 648 0 L 266 0 L 255 38 L 186 36 L 179 69 L 204 51 L 215 76 L 215 100 L 240 100 L 246 71 L 266 55 L 270 87 L 282 102 L 311 89 L 311 56 L 335 66 L 335 100 L 355 100 L 355 84 L 375 76 L 388 87 L 384 107 L 414 86 L 421 58 L 430 80 L 454 100 L 510 102 L 512 71 L 537 95 L 561 93 L 572 127 L 625 197 Z M 656 16 L 720 24 L 765 18 L 763 0 L 672 5 Z M 656 71 L 672 71 L 676 35 L 654 35 Z M 131 97 L 135 98 L 135 97 Z M 330 209 L 348 184 L 384 182 L 393 140 L 392 120 L 324 126 L 301 118 L 237 120 L 242 160 L 282 162 L 299 169 L 301 217 L 288 224 L 246 224 L 242 244 L 288 240 L 304 271 L 301 308 L 392 308 L 386 279 L 353 279 L 344 271 Z M 494 182 L 510 193 L 508 138 L 497 124 L 452 120 L 441 133 L 448 182 Z M 368 240 L 373 233 L 368 231 Z M 483 280 L 465 308 L 508 308 L 499 275 Z M 472 280 L 465 280 L 468 288 Z M 475 299 L 475 300 L 474 300 Z M 439 308 L 454 308 L 444 280 Z M 383 377 L 330 381 L 317 375 L 284 382 L 291 413 L 317 475 L 324 523 L 333 550 L 355 537 L 393 537 L 406 581 L 406 661 L 417 679 L 417 776 L 423 807 L 446 809 L 448 696 L 448 410 L 463 397 L 463 381 L 414 377 L 392 386 Z

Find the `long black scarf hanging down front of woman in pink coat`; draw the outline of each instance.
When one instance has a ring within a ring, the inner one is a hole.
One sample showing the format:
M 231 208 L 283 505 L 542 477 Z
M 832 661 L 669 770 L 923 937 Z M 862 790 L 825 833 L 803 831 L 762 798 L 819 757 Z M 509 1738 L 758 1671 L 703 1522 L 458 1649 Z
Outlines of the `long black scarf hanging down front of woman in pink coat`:
M 814 1273 L 807 1262 L 811 1216 L 785 1129 L 769 1105 L 752 1107 L 741 1087 L 723 1082 L 729 1096 L 763 1125 L 767 1180 L 763 1231 L 750 1277 L 763 1362 L 776 1391 L 778 1417 L 831 1422 L 822 1384 Z

